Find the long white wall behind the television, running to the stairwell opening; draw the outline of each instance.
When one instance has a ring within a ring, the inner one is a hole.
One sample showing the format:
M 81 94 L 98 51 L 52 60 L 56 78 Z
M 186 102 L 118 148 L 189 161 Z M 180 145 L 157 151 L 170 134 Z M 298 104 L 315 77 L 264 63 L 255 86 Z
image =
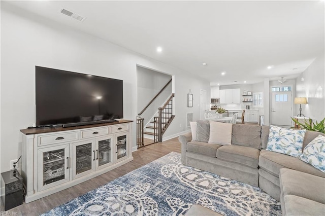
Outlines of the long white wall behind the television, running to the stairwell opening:
M 200 116 L 200 107 L 187 107 L 191 89 L 194 105 L 207 80 L 188 76 L 178 68 L 64 27 L 2 2 L 1 7 L 1 172 L 21 155 L 20 129 L 35 123 L 35 65 L 76 71 L 123 80 L 124 119 L 137 116 L 137 64 L 175 76 L 176 118 L 165 133 L 173 136 L 186 130 L 186 112 Z M 200 71 L 198 71 L 199 73 Z M 208 101 L 208 99 L 207 99 Z M 136 146 L 136 127 L 133 127 Z

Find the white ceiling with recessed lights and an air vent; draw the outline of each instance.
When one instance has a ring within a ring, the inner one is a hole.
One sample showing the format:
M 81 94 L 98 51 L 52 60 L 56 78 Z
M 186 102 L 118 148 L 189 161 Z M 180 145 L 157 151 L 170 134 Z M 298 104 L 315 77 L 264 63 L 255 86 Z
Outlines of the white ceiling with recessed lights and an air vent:
M 173 65 L 184 73 L 197 74 L 209 79 L 211 85 L 296 78 L 324 52 L 324 1 L 10 4 Z M 60 14 L 62 7 L 86 20 L 79 22 Z M 157 46 L 163 52 L 157 53 Z M 273 68 L 267 69 L 268 65 Z M 222 71 L 226 71 L 225 76 L 221 76 Z

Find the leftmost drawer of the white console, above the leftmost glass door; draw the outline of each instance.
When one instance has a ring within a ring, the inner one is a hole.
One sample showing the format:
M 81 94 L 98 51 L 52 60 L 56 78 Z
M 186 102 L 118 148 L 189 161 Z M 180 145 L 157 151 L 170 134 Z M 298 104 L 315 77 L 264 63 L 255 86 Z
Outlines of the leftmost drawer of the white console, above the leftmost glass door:
M 40 135 L 38 137 L 39 146 L 50 145 L 53 143 L 78 140 L 78 131 L 69 133 L 56 133 L 50 135 Z

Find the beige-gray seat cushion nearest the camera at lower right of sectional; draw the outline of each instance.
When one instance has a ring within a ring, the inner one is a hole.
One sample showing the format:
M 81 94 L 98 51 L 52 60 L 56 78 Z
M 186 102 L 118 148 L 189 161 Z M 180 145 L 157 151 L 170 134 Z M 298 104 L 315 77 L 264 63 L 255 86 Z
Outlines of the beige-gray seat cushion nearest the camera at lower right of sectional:
M 293 169 L 280 169 L 280 188 L 284 196 L 296 195 L 325 204 L 323 177 Z

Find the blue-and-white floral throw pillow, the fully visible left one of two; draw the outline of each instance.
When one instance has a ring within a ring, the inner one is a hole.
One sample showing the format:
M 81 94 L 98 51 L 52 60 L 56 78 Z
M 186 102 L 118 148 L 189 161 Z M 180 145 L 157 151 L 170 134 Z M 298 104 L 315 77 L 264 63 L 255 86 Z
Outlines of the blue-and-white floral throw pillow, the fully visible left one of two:
M 270 126 L 266 150 L 298 158 L 303 153 L 303 141 L 306 130 L 293 130 Z

